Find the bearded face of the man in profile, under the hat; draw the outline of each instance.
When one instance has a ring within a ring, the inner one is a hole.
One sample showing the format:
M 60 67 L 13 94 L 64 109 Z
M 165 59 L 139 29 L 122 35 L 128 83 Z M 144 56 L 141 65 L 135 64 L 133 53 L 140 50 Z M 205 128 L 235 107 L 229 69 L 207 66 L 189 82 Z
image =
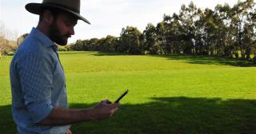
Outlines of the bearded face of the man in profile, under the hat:
M 49 28 L 50 39 L 58 45 L 66 45 L 71 35 L 74 35 L 74 26 L 78 19 L 70 14 L 58 14 Z

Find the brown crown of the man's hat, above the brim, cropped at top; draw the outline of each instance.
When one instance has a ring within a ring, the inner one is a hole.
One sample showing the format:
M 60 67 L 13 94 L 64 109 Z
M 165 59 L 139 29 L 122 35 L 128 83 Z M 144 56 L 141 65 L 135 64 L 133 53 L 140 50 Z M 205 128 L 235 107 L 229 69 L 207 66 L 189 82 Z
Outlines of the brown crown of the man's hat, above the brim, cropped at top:
M 43 0 L 42 3 L 63 6 L 74 12 L 80 13 L 80 0 Z

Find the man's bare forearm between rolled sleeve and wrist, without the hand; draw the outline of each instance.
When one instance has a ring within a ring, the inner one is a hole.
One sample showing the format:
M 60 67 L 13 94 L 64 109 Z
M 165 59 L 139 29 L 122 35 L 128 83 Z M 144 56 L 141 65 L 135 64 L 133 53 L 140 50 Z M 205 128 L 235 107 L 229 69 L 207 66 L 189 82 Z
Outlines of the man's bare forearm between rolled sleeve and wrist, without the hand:
M 93 120 L 91 108 L 88 109 L 68 109 L 56 107 L 46 119 L 39 122 L 42 125 L 65 125 L 82 121 Z

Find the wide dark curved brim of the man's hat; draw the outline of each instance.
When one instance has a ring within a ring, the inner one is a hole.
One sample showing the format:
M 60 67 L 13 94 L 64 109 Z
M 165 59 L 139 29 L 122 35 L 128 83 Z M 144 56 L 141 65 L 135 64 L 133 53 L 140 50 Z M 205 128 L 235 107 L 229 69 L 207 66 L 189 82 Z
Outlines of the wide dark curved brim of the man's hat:
M 50 5 L 47 3 L 28 3 L 25 6 L 26 10 L 32 14 L 42 14 L 42 11 L 46 7 L 54 7 L 54 8 L 58 8 L 60 10 L 65 10 L 65 11 L 69 12 L 70 14 L 74 14 L 74 16 L 76 16 L 78 19 L 82 20 L 83 22 L 90 24 L 90 22 L 86 18 L 82 17 L 80 14 L 78 14 L 72 10 L 66 9 L 62 6 Z

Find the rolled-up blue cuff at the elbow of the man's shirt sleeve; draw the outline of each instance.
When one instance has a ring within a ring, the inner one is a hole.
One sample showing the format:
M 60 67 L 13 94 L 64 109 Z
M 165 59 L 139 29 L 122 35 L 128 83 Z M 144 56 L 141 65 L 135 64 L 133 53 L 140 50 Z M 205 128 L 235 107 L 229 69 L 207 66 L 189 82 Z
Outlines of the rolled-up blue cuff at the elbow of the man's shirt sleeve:
M 32 121 L 38 123 L 49 116 L 54 107 L 51 105 L 51 101 L 42 101 L 29 104 L 27 108 L 29 109 Z

